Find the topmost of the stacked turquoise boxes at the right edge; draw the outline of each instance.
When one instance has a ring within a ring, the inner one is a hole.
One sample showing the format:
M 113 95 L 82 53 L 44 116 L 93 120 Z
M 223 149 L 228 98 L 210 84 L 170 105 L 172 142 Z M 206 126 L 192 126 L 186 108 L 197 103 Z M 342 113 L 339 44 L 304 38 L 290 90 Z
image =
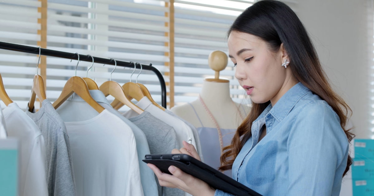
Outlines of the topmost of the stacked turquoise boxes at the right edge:
M 374 160 L 374 139 L 355 139 L 355 159 Z

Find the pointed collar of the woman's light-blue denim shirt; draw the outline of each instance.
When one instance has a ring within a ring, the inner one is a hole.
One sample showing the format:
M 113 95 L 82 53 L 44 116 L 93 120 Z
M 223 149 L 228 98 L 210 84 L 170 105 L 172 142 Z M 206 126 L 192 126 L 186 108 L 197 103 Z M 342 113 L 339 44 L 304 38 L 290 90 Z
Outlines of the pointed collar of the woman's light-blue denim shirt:
M 260 116 L 258 116 L 258 118 L 252 123 L 251 132 L 254 138 L 253 146 L 256 145 L 256 141 L 258 141 L 260 134 L 260 129 L 265 123 L 267 126 L 267 132 L 270 132 L 272 130 L 272 125 L 274 124 L 271 120 L 275 119 L 278 121 L 278 123 L 282 121 L 283 118 L 285 118 L 289 112 L 291 112 L 298 100 L 309 91 L 310 90 L 306 86 L 299 82 L 291 87 L 274 106 L 269 104 L 260 114 Z M 269 125 L 271 127 L 268 127 Z

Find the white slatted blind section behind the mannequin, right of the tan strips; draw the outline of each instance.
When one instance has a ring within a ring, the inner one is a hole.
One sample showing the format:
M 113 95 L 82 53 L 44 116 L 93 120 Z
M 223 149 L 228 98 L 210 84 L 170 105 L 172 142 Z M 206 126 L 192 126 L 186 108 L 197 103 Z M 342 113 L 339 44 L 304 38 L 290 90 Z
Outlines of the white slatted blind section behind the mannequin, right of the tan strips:
M 253 0 L 175 0 L 175 105 L 197 99 L 203 79 L 214 76 L 208 56 L 221 50 L 228 55 L 227 30 Z M 234 77 L 231 60 L 220 77 L 230 80 L 234 101 L 243 101 L 244 91 Z

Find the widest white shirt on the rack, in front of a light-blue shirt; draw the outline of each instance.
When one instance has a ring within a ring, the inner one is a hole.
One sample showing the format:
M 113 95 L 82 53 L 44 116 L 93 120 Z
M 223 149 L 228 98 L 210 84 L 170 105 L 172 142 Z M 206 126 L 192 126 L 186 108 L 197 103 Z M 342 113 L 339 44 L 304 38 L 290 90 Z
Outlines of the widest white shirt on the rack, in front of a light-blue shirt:
M 131 128 L 107 109 L 98 114 L 87 105 L 70 99 L 56 109 L 70 139 L 77 195 L 143 196 Z

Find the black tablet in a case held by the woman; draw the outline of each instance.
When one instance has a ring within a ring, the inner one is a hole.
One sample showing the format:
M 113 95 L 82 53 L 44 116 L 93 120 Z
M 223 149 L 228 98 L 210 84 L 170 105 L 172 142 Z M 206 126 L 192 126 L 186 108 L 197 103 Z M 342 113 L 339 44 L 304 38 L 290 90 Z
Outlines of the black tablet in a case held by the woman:
M 152 163 L 167 174 L 170 174 L 168 171 L 169 166 L 174 165 L 187 174 L 205 181 L 214 189 L 223 190 L 233 195 L 261 196 L 254 190 L 249 189 L 236 180 L 187 154 L 147 154 L 143 162 Z

